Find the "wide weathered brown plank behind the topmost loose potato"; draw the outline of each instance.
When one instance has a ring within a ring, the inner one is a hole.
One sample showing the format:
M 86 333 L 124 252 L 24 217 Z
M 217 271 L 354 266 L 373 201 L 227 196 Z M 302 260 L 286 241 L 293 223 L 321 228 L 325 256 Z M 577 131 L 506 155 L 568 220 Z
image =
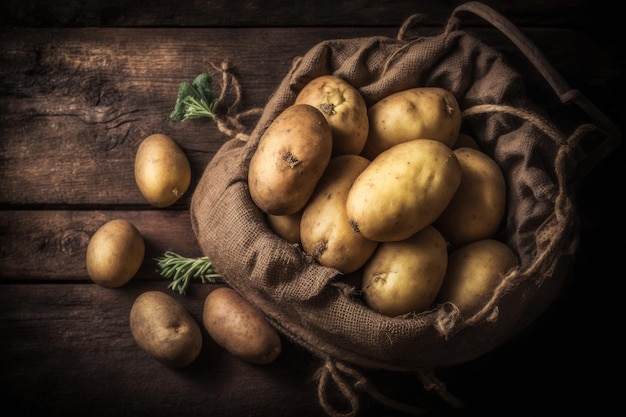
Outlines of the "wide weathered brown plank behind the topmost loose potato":
M 532 94 L 558 105 L 506 38 L 476 33 L 510 56 Z M 180 82 L 227 60 L 243 91 L 240 109 L 259 108 L 291 60 L 318 42 L 395 34 L 395 28 L 0 30 L 0 207 L 145 206 L 134 155 L 156 132 L 169 134 L 189 157 L 193 189 L 227 137 L 210 120 L 169 119 Z M 610 43 L 563 30 L 529 36 L 572 86 L 585 86 L 583 93 L 621 120 L 625 106 L 615 91 L 624 81 Z M 572 43 L 580 53 L 563 48 Z M 188 201 L 189 194 L 177 207 Z

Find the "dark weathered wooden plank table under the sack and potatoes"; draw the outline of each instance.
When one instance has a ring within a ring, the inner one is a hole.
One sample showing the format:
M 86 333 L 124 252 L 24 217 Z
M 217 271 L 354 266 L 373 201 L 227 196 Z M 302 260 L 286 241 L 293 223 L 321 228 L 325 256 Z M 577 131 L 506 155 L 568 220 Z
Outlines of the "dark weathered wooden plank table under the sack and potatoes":
M 244 108 L 262 108 L 292 59 L 335 38 L 395 37 L 411 14 L 439 33 L 460 1 L 84 2 L 6 0 L 0 6 L 0 409 L 14 416 L 325 415 L 319 361 L 285 341 L 267 366 L 244 363 L 210 340 L 193 365 L 173 370 L 133 341 L 129 311 L 164 290 L 155 258 L 201 255 L 189 219 L 193 187 L 224 135 L 210 120 L 169 119 L 182 81 L 228 61 Z M 588 0 L 486 1 L 511 19 L 575 88 L 624 130 L 620 15 Z M 471 28 L 520 67 L 515 48 L 479 20 Z M 528 71 L 528 83 L 540 83 Z M 544 97 L 545 98 L 545 97 Z M 188 156 L 191 190 L 155 209 L 133 176 L 135 151 L 152 133 Z M 467 407 L 453 412 L 411 374 L 367 371 L 391 398 L 430 415 L 520 416 L 617 405 L 621 391 L 625 232 L 618 197 L 624 153 L 611 153 L 577 198 L 581 247 L 562 295 L 510 342 L 439 376 Z M 621 184 L 621 185 L 620 185 Z M 147 253 L 136 277 L 111 290 L 85 269 L 91 235 L 124 218 Z M 198 321 L 210 285 L 181 301 Z M 495 413 L 495 414 L 494 414 Z M 396 415 L 363 396 L 359 415 Z M 477 415 L 477 414 L 472 414 Z

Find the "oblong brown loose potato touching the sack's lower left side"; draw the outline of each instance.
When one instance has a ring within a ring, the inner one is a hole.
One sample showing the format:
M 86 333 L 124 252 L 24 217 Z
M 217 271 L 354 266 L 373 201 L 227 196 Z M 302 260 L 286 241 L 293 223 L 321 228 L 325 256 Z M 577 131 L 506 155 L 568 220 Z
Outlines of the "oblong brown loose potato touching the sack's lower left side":
M 207 295 L 202 322 L 218 345 L 246 362 L 266 365 L 282 352 L 280 336 L 263 313 L 232 288 Z

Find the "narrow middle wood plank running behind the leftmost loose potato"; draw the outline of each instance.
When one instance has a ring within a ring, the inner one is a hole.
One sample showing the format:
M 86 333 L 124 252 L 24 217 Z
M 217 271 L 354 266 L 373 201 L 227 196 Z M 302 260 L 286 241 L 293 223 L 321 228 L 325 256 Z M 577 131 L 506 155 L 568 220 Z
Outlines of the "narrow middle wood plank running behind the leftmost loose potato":
M 201 256 L 187 210 L 24 210 L 0 216 L 2 278 L 19 280 L 89 280 L 85 254 L 91 236 L 105 222 L 133 223 L 146 245 L 143 265 L 134 279 L 163 280 L 155 258 L 171 250 Z

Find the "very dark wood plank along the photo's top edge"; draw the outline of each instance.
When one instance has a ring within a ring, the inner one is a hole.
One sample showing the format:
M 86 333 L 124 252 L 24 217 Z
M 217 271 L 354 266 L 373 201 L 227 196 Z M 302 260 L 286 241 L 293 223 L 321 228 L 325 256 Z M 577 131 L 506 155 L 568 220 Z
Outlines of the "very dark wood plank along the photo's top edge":
M 414 13 L 423 13 L 428 25 L 443 24 L 462 0 L 379 0 L 370 2 L 328 1 L 268 2 L 264 0 L 157 0 L 146 10 L 141 0 L 88 0 L 45 2 L 5 0 L 0 7 L 0 24 L 6 26 L 397 26 Z M 484 0 L 516 24 L 530 26 L 589 27 L 596 21 L 589 0 Z M 602 13 L 602 15 L 608 15 Z

